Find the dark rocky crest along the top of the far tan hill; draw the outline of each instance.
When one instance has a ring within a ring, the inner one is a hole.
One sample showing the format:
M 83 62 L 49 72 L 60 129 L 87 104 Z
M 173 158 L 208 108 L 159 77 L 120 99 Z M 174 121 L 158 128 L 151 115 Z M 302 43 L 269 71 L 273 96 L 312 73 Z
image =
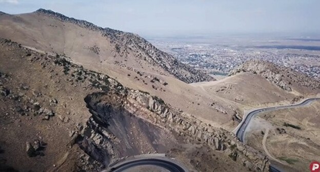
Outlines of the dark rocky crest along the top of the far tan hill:
M 146 39 L 136 34 L 122 32 L 110 28 L 98 27 L 85 20 L 70 18 L 51 10 L 39 9 L 36 11 L 36 13 L 48 15 L 50 17 L 62 20 L 63 22 L 73 23 L 83 28 L 101 32 L 103 36 L 110 39 L 110 42 L 113 42 L 116 51 L 119 54 L 122 53 L 126 55 L 128 52 L 125 50 L 134 50 L 134 55 L 136 57 L 148 61 L 151 65 L 161 67 L 165 71 L 175 76 L 177 79 L 186 83 L 215 80 L 211 76 L 177 61 L 172 55 L 158 50 Z

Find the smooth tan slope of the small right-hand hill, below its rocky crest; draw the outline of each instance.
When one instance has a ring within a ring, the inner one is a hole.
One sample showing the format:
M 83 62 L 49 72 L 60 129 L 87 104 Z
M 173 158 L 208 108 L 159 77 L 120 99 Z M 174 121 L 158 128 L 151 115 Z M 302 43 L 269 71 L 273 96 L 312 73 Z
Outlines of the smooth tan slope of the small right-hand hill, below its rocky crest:
M 295 95 L 276 87 L 264 77 L 251 73 L 241 73 L 212 82 L 192 84 L 209 94 L 250 106 L 292 100 Z M 252 108 L 252 107 L 251 107 Z

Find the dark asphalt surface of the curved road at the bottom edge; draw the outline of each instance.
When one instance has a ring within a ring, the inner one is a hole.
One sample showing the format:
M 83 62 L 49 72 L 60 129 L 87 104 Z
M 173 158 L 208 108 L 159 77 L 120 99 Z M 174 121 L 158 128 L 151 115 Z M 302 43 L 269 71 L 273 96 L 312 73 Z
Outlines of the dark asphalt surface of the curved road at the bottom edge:
M 117 166 L 116 168 L 111 168 L 110 171 L 112 172 L 120 172 L 126 169 L 141 166 L 141 165 L 154 165 L 158 167 L 165 168 L 171 172 L 188 172 L 183 167 L 179 166 L 170 161 L 161 160 L 161 159 L 140 159 L 140 160 L 133 160 L 124 164 Z

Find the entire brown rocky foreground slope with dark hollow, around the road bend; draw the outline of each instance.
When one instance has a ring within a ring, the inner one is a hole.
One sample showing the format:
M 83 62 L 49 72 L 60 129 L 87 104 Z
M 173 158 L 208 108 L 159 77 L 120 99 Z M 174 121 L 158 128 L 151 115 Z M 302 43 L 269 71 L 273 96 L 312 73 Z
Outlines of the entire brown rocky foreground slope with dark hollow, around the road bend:
M 0 42 L 2 170 L 97 171 L 114 159 L 146 152 L 174 152 L 191 171 L 269 168 L 264 155 L 232 133 L 156 96 L 64 57 Z M 186 152 L 179 150 L 182 145 L 189 147 Z M 210 151 L 190 148 L 198 145 Z M 218 165 L 202 158 L 215 155 Z

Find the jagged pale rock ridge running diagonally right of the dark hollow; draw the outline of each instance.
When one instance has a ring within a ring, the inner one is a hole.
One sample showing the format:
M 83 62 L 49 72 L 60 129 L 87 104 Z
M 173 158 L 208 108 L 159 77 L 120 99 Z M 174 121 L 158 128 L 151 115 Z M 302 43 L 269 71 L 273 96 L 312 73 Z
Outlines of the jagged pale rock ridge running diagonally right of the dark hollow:
M 232 157 L 236 157 L 234 160 L 250 170 L 269 170 L 270 162 L 265 155 L 239 142 L 234 134 L 222 128 L 215 128 L 197 120 L 190 114 L 173 110 L 157 97 L 140 91 L 130 90 L 127 100 L 126 106 L 131 108 L 131 111 L 135 111 L 139 117 L 149 120 L 159 127 L 168 126 L 189 141 L 202 142 L 215 150 L 224 152 L 229 157 L 232 155 Z M 133 104 L 134 107 L 129 106 L 130 104 Z M 148 109 L 152 113 L 146 113 L 147 110 L 144 109 Z M 142 114 L 148 115 L 141 116 Z

